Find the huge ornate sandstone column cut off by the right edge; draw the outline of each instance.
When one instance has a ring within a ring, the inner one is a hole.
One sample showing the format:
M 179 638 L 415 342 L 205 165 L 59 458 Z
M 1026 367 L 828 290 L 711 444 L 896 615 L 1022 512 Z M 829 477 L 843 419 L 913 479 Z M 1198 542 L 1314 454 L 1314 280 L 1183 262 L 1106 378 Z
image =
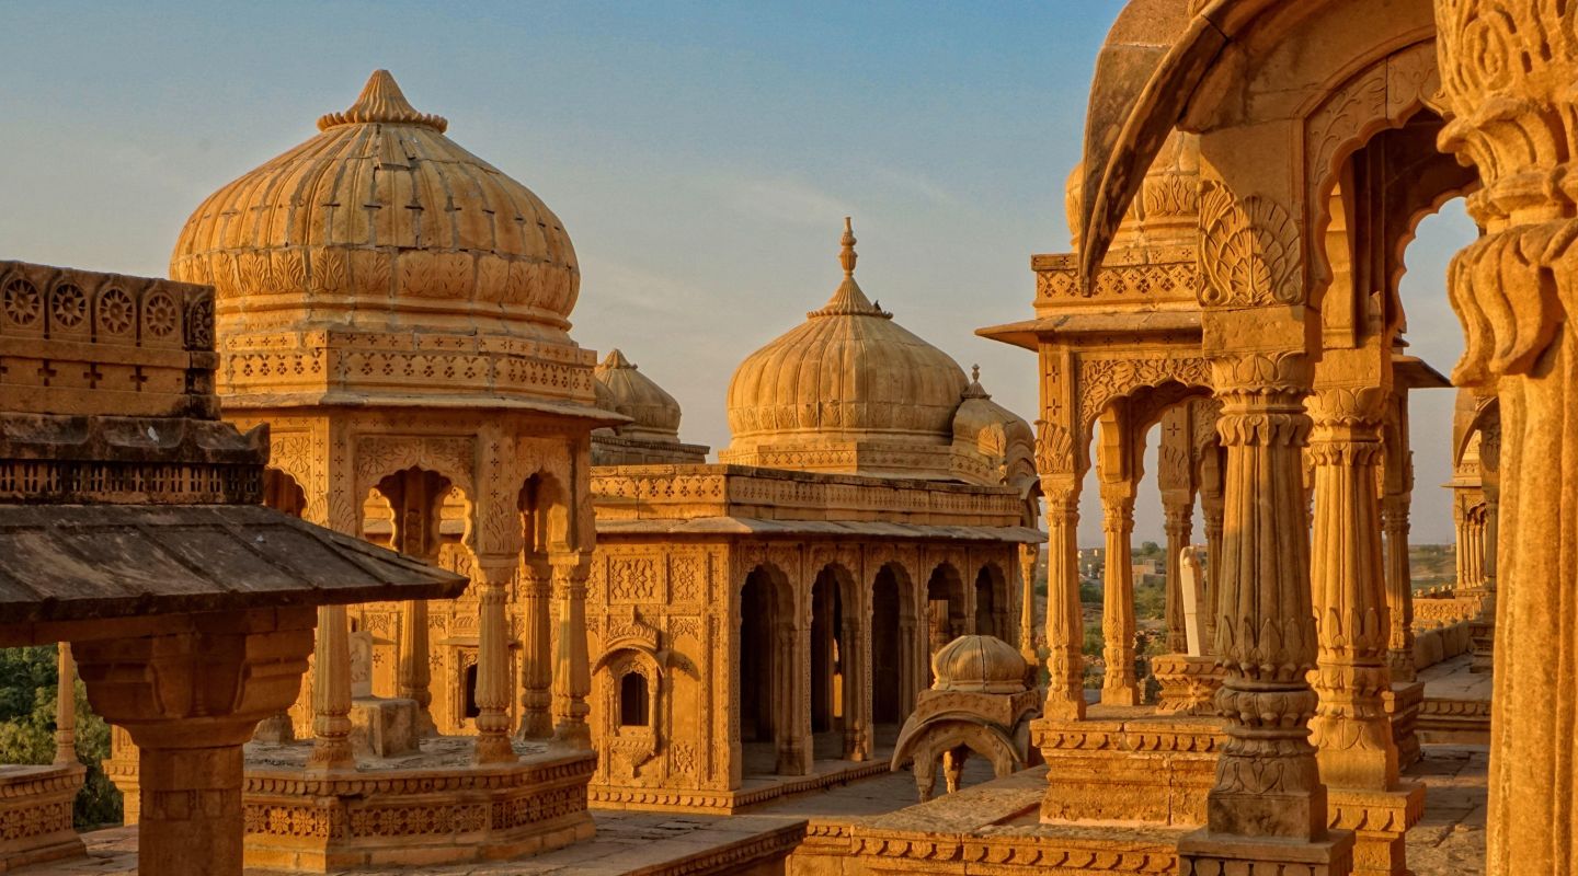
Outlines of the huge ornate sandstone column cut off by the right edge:
M 1458 254 L 1449 295 L 1468 334 L 1458 386 L 1496 384 L 1507 536 L 1498 551 L 1496 690 L 1486 873 L 1578 873 L 1572 824 L 1578 723 L 1570 659 L 1578 605 L 1565 470 L 1578 449 L 1578 41 L 1562 3 L 1436 0 L 1442 151 L 1483 187 L 1469 214 L 1485 235 Z M 1565 328 L 1564 328 L 1565 326 Z M 1561 826 L 1561 827 L 1553 827 Z

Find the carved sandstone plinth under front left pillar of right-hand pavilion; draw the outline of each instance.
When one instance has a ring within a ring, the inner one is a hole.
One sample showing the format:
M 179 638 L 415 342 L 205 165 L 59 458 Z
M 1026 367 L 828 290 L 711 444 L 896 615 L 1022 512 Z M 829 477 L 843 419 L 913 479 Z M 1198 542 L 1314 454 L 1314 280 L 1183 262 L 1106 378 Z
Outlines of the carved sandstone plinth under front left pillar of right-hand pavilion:
M 1043 822 L 1206 822 L 1206 794 L 1217 780 L 1218 718 L 1094 707 L 1086 720 L 1030 723 L 1030 744 L 1046 759 Z

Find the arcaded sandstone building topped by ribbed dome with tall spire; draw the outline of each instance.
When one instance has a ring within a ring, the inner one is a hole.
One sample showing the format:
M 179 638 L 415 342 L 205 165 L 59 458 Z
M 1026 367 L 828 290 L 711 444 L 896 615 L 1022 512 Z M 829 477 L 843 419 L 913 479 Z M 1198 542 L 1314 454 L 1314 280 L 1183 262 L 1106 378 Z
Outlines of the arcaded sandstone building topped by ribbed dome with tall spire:
M 718 465 L 617 353 L 600 403 L 631 418 L 592 477 L 593 805 L 731 813 L 887 772 L 964 633 L 1032 649 L 1034 435 L 980 380 L 843 280 L 734 373 Z M 977 375 L 978 377 L 978 375 Z M 1004 641 L 999 641 L 1004 640 Z M 1034 649 L 1030 651 L 1034 654 Z

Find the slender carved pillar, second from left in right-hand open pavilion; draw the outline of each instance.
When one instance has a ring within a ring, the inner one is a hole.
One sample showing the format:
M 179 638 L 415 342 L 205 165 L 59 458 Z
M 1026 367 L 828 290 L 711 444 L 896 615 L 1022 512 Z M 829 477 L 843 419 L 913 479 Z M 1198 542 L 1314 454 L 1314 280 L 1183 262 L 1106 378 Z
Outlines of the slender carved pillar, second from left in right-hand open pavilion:
M 1106 566 L 1101 586 L 1101 679 L 1103 706 L 1138 706 L 1139 679 L 1135 674 L 1135 559 L 1130 547 L 1135 533 L 1135 493 L 1101 488 L 1101 529 L 1106 534 Z

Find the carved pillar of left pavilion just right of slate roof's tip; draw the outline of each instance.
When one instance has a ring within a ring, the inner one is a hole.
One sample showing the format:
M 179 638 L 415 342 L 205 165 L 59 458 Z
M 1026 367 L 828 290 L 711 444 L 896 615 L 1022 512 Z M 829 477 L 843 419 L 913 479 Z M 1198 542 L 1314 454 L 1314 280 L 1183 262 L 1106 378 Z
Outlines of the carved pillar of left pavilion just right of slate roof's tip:
M 477 592 L 477 748 L 478 764 L 514 763 L 510 747 L 510 625 L 505 602 L 519 569 L 514 556 L 478 556 Z

